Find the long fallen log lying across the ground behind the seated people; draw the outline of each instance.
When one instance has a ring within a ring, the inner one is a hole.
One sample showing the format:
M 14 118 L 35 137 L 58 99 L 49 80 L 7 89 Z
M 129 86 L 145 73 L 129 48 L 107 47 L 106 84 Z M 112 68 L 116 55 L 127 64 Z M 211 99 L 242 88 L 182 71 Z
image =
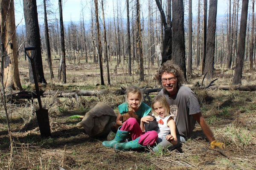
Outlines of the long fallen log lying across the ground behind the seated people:
M 256 85 L 212 85 L 210 87 L 191 87 L 192 90 L 195 89 L 221 89 L 221 90 L 238 90 L 238 91 L 256 91 Z M 154 92 L 159 92 L 162 88 L 151 88 L 151 89 L 141 89 L 143 94 L 149 94 Z M 102 91 L 40 91 L 42 97 L 55 96 L 55 97 L 76 97 L 76 96 L 99 96 L 104 94 L 114 94 L 123 95 L 125 94 L 125 89 L 121 88 L 116 91 L 102 90 Z M 31 99 L 37 98 L 35 91 L 12 91 L 11 94 L 6 94 L 7 99 Z

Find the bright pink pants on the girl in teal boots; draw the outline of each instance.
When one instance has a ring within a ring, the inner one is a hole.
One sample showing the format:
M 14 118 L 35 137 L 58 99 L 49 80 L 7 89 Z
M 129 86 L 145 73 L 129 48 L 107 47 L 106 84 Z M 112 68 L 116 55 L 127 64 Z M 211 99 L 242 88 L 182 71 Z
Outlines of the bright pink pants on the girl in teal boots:
M 143 133 L 135 118 L 126 120 L 120 130 L 129 131 L 131 133 L 131 140 L 140 137 L 138 143 L 143 146 L 151 146 L 157 141 L 158 137 L 157 132 L 154 130 Z

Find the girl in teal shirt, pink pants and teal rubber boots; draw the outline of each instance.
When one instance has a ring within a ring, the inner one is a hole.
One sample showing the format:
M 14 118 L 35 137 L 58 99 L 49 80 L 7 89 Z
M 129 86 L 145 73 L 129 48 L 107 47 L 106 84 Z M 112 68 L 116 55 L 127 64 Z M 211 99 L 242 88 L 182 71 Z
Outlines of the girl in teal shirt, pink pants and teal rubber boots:
M 136 86 L 131 86 L 126 91 L 125 102 L 118 106 L 119 113 L 116 118 L 116 125 L 120 126 L 116 132 L 115 138 L 111 141 L 104 141 L 102 144 L 105 147 L 114 146 L 118 150 L 129 150 L 129 149 L 139 149 L 147 145 L 151 146 L 157 140 L 157 132 L 152 130 L 148 132 L 143 132 L 140 125 L 135 118 L 129 118 L 124 123 L 122 123 L 119 118 L 122 114 L 127 111 L 134 111 L 141 118 L 141 125 L 144 122 L 154 120 L 152 116 L 147 116 L 151 111 L 151 108 L 143 102 L 143 95 L 140 88 Z M 124 142 L 125 139 L 131 137 L 132 141 Z M 109 138 L 109 135 L 108 135 Z M 124 142 L 124 143 L 119 143 Z M 119 145 L 121 144 L 121 145 Z

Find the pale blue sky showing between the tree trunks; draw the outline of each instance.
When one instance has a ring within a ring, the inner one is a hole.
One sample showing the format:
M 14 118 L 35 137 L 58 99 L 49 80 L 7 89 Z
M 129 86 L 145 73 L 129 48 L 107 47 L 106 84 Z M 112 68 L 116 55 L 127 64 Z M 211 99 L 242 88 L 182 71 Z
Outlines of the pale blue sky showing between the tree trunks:
M 90 19 L 90 2 L 92 0 L 63 0 L 63 20 L 64 21 L 79 21 L 81 16 L 81 2 L 84 6 L 84 17 L 85 19 Z M 116 6 L 116 0 L 104 0 L 105 6 L 105 17 L 113 17 L 113 1 L 114 5 Z M 126 0 L 118 0 L 119 3 L 122 3 L 122 13 L 124 14 L 123 17 L 126 16 L 126 8 L 125 8 L 125 1 Z M 51 0 L 52 2 L 52 10 L 55 12 L 56 17 L 58 18 L 58 0 Z M 100 1 L 99 1 L 100 2 Z M 147 9 L 147 0 L 140 0 L 142 8 L 144 7 Z M 42 0 L 37 0 L 37 5 L 43 4 Z M 193 11 L 193 15 L 197 15 L 197 4 L 198 0 L 192 0 L 193 8 L 195 11 Z M 209 2 L 208 2 L 209 5 Z M 40 8 L 38 7 L 38 12 L 40 11 Z M 218 14 L 225 14 L 227 11 L 227 0 L 218 0 Z M 147 14 L 147 12 L 145 12 Z M 40 20 L 40 18 L 39 18 Z M 15 22 L 16 25 L 18 23 L 22 22 L 24 25 L 24 19 L 23 19 L 23 1 L 22 0 L 15 0 Z

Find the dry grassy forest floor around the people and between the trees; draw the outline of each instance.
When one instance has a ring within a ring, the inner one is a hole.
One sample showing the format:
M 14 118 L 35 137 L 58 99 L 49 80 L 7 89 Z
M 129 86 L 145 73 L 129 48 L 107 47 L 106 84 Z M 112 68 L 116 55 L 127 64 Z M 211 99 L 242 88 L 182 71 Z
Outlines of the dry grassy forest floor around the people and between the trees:
M 72 61 L 73 62 L 73 61 Z M 126 61 L 125 61 L 126 62 Z M 139 82 L 137 64 L 128 76 L 128 67 L 119 65 L 117 73 L 110 65 L 111 86 L 100 84 L 99 65 L 68 62 L 67 84 L 58 81 L 58 60 L 53 60 L 54 79 L 50 79 L 47 62 L 43 60 L 47 85 L 42 90 L 117 90 L 129 85 L 141 88 L 160 88 L 153 80 L 157 69 L 144 69 L 145 81 Z M 145 64 L 145 63 L 144 63 Z M 33 90 L 28 82 L 28 65 L 19 59 L 20 79 L 23 90 Z M 146 64 L 145 64 L 146 65 Z M 230 85 L 232 70 L 216 67 L 215 84 Z M 104 69 L 106 70 L 105 63 Z M 197 68 L 188 77 L 188 84 L 202 80 Z M 105 71 L 105 84 L 107 76 Z M 244 68 L 243 85 L 256 85 L 256 70 Z M 204 80 L 208 85 L 211 80 Z M 41 138 L 34 111 L 37 100 L 18 99 L 7 101 L 12 144 L 8 136 L 3 102 L 0 103 L 0 170 L 254 170 L 256 169 L 256 91 L 223 91 L 220 89 L 195 89 L 201 104 L 201 111 L 215 138 L 224 142 L 226 148 L 210 148 L 201 127 L 196 123 L 192 137 L 179 148 L 157 153 L 145 151 L 116 151 L 103 147 L 105 138 L 91 138 L 83 129 L 76 127 L 81 119 L 70 119 L 75 114 L 84 115 L 97 102 L 105 102 L 117 113 L 117 106 L 124 102 L 124 96 L 104 94 L 82 96 L 79 101 L 70 98 L 47 96 L 41 98 L 43 108 L 48 109 L 52 136 Z M 150 105 L 157 93 L 145 98 Z

